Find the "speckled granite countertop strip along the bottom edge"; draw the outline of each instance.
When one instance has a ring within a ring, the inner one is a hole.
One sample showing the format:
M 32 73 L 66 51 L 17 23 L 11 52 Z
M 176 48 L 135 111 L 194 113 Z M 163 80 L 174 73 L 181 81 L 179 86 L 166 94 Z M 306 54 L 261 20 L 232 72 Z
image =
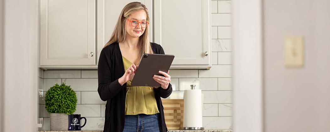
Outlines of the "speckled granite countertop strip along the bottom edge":
M 233 130 L 169 130 L 167 132 L 232 132 Z M 37 131 L 37 132 L 73 132 L 73 131 Z M 103 130 L 84 130 L 75 132 L 103 132 Z

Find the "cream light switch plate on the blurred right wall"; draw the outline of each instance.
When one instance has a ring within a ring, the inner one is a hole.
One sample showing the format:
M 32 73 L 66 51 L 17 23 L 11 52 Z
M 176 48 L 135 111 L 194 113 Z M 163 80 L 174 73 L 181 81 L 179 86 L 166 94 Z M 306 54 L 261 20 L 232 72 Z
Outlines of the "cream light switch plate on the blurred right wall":
M 303 67 L 304 39 L 302 36 L 287 36 L 284 38 L 285 67 Z

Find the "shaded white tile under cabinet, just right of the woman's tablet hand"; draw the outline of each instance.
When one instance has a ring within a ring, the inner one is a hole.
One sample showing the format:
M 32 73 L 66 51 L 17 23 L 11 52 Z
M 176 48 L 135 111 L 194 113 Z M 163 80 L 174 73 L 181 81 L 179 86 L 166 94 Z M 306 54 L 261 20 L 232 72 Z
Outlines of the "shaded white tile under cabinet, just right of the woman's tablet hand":
M 170 70 L 171 78 L 198 78 L 198 70 Z

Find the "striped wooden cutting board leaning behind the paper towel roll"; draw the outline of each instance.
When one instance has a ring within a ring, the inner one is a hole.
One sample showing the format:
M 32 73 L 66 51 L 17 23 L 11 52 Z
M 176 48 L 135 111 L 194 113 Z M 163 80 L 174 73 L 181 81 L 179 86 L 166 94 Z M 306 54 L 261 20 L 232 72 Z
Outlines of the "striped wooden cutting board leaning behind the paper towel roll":
M 180 130 L 183 126 L 183 99 L 162 99 L 165 123 L 168 130 Z

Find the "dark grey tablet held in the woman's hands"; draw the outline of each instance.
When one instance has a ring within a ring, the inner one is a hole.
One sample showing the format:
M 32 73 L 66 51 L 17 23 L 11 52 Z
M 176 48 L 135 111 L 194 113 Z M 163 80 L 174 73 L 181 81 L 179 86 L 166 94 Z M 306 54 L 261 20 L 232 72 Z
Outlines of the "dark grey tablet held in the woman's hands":
M 161 86 L 158 82 L 153 80 L 153 75 L 159 75 L 158 71 L 168 72 L 173 62 L 174 55 L 168 54 L 144 54 L 140 59 L 140 64 L 135 72 L 132 86 Z

